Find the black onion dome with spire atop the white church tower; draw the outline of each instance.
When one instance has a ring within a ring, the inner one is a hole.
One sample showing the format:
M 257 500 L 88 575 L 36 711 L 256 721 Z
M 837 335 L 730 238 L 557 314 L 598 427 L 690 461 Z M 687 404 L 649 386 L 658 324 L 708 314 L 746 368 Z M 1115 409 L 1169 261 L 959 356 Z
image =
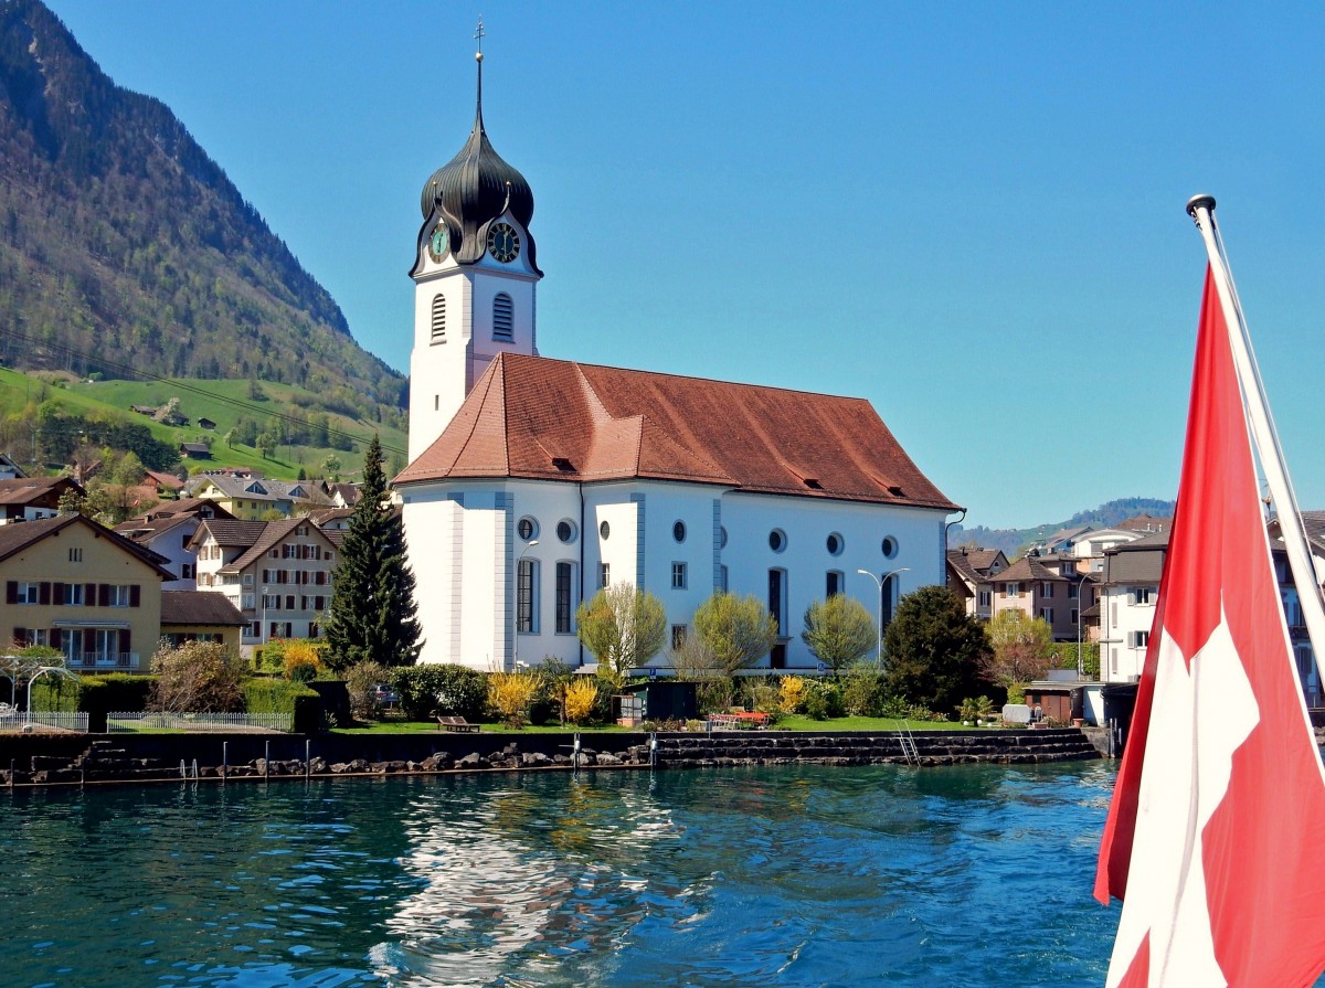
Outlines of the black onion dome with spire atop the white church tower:
M 534 262 L 534 237 L 529 221 L 534 217 L 534 191 L 514 167 L 507 164 L 488 140 L 484 130 L 484 77 L 478 64 L 478 107 L 474 128 L 460 152 L 432 173 L 423 187 L 420 208 L 427 220 L 436 208 L 450 228 L 454 257 L 473 264 L 484 256 L 486 228 L 505 212 L 525 228 L 529 262 Z

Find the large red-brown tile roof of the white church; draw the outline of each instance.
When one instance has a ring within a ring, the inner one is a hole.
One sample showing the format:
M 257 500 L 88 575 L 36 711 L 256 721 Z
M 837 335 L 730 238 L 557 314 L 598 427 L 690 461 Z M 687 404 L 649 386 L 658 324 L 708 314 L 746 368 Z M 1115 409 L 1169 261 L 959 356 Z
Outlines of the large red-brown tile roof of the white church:
M 864 399 L 501 354 L 398 485 L 662 479 L 955 510 Z

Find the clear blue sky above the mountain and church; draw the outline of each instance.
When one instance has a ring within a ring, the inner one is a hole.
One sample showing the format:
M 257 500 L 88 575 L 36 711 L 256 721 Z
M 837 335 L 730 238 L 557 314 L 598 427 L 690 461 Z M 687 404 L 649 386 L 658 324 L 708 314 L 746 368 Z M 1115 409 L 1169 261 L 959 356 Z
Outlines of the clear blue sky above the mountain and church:
M 480 9 L 53 0 L 407 370 Z M 969 523 L 1173 497 L 1211 192 L 1304 507 L 1325 8 L 488 3 L 545 355 L 869 399 Z

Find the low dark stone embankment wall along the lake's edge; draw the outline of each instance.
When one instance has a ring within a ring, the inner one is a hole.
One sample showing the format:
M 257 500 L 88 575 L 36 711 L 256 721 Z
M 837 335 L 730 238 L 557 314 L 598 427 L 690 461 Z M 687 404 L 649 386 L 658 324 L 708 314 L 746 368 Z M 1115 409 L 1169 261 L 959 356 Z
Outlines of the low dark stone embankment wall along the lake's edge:
M 1098 758 L 1080 730 L 584 735 L 5 735 L 0 784 L 547 768 L 1044 763 Z

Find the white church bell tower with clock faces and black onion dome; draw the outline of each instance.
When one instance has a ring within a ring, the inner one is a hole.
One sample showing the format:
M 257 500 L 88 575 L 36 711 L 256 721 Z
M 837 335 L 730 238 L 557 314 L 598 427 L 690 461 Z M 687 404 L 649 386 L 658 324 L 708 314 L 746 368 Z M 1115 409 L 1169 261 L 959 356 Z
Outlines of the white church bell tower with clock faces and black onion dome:
M 534 307 L 543 273 L 529 229 L 534 193 L 484 130 L 482 36 L 480 21 L 474 127 L 423 187 L 423 226 L 409 272 L 411 462 L 447 428 L 497 354 L 538 355 Z

